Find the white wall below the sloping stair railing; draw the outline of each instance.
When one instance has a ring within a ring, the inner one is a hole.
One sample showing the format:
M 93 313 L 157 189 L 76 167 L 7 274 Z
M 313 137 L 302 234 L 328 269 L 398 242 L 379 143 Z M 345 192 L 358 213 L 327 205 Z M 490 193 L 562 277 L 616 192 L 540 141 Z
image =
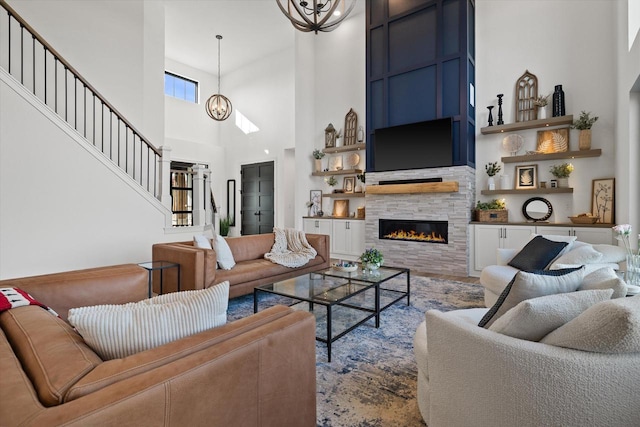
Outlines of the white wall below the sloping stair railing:
M 148 261 L 191 238 L 165 235 L 160 203 L 22 92 L 0 82 L 0 278 Z

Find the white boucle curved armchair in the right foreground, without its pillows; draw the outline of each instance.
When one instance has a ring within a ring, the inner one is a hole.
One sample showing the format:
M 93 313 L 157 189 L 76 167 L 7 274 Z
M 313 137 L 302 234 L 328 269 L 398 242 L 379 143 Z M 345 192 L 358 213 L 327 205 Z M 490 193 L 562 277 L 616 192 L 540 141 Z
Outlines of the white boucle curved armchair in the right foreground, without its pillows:
M 418 406 L 429 427 L 640 425 L 639 353 L 512 338 L 477 326 L 486 312 L 431 310 L 416 331 Z

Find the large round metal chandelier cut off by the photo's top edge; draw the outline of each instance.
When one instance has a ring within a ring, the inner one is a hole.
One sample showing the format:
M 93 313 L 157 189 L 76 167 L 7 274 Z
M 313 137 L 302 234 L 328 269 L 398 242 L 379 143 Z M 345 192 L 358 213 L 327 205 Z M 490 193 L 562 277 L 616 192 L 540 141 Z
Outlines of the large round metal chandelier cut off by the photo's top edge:
M 276 0 L 278 7 L 300 31 L 333 31 L 349 15 L 356 0 Z M 345 3 L 349 6 L 345 7 Z M 285 8 L 283 3 L 287 4 Z

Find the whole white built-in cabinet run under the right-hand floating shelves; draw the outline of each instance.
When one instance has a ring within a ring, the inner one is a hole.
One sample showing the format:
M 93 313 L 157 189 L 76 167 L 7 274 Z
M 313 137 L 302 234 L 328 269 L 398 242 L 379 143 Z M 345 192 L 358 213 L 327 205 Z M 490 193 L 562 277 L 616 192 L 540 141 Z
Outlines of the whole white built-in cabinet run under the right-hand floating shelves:
M 521 248 L 531 238 L 531 233 L 576 236 L 576 240 L 596 244 L 615 245 L 610 227 L 573 227 L 552 225 L 491 225 L 471 224 L 471 253 L 469 271 L 480 276 L 482 269 L 496 263 L 498 248 Z

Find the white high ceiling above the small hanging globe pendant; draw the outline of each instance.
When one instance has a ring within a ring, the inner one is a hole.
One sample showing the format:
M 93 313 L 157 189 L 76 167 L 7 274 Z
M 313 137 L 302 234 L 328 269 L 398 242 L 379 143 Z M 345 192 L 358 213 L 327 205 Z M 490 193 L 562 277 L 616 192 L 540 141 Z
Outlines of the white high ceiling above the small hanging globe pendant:
M 165 56 L 221 74 L 290 47 L 294 28 L 275 0 L 165 0 Z

